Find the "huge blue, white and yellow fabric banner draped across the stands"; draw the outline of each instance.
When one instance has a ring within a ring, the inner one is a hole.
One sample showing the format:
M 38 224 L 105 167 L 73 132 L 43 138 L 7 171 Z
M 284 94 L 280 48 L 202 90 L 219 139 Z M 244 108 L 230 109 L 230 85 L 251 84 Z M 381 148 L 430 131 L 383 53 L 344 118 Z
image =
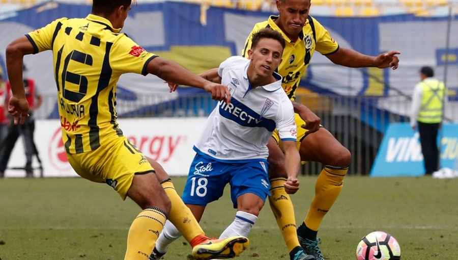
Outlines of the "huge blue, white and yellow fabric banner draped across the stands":
M 85 17 L 90 12 L 90 5 L 49 1 L 1 16 L 0 67 L 5 70 L 5 50 L 15 38 L 43 27 L 56 18 Z M 314 15 L 313 5 L 310 14 Z M 196 4 L 173 1 L 138 4 L 132 6 L 122 32 L 146 50 L 176 61 L 194 73 L 201 73 L 218 67 L 230 56 L 240 55 L 254 24 L 268 19 L 269 15 L 271 13 L 218 7 L 203 8 Z M 301 80 L 298 95 L 309 91 L 342 96 L 386 96 L 398 95 L 399 92 L 410 95 L 419 80 L 418 71 L 421 66 L 434 66 L 437 75 L 444 74 L 444 61 L 448 61 L 448 71 L 456 71 L 458 68 L 458 41 L 455 34 L 450 35 L 449 50 L 445 51 L 448 46 L 445 41 L 447 17 L 417 17 L 403 14 L 314 18 L 317 19 L 316 24 L 321 23 L 326 27 L 341 48 L 352 48 L 367 55 L 400 50 L 402 65 L 395 71 L 386 69 L 383 73 L 374 68 L 347 68 L 335 66 L 326 56 L 317 52 Z M 454 19 L 451 26 L 456 28 L 458 20 Z M 446 53 L 448 55 L 445 55 Z M 28 76 L 36 81 L 40 92 L 45 96 L 54 96 L 51 52 L 26 56 L 24 61 L 28 68 Z M 447 87 L 458 88 L 457 73 L 448 73 Z M 391 93 L 392 89 L 396 91 Z M 117 105 L 117 113 L 120 116 L 128 116 L 151 111 L 151 108 L 156 107 L 160 111 L 162 107 L 174 101 L 180 102 L 181 107 L 185 109 L 186 103 L 181 104 L 181 100 L 186 100 L 195 92 L 192 88 L 180 88 L 180 91 L 169 94 L 168 87 L 163 81 L 153 75 L 144 77 L 125 74 L 118 82 L 117 98 L 122 102 Z M 156 95 L 160 98 L 144 98 Z M 378 104 L 368 106 L 377 107 Z M 58 118 L 55 107 L 42 106 L 40 109 L 46 110 L 43 114 L 48 118 Z M 194 114 L 198 114 L 199 111 L 209 113 L 212 108 L 213 106 L 198 107 L 195 108 Z M 383 112 L 377 113 L 383 116 Z M 379 118 L 381 117 L 377 117 L 377 120 L 385 120 Z M 369 125 L 378 127 L 377 121 L 371 118 L 364 120 Z

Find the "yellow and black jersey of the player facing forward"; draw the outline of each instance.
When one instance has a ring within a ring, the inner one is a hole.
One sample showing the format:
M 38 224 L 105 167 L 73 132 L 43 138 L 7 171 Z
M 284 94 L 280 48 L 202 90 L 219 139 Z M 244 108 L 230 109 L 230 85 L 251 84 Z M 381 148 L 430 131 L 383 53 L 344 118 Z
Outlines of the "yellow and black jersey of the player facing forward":
M 283 35 L 286 46 L 283 50 L 283 60 L 278 66 L 278 73 L 283 77 L 281 86 L 288 97 L 294 100 L 296 89 L 299 87 L 301 77 L 304 76 L 314 51 L 317 50 L 323 55 L 329 55 L 335 53 L 339 45 L 331 38 L 326 28 L 311 16 L 308 16 L 299 38 L 293 42 L 275 24 L 274 21 L 277 18 L 278 16 L 272 15 L 269 20 L 254 25 L 253 30 L 245 41 L 242 56 L 248 57 L 248 49 L 251 48 L 251 37 L 254 33 L 266 27 L 280 32 Z

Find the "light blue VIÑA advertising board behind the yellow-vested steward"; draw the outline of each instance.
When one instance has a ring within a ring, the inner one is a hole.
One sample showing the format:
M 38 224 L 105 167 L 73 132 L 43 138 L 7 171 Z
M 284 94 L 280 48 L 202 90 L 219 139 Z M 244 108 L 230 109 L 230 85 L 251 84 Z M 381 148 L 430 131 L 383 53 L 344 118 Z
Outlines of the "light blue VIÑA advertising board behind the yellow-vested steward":
M 458 158 L 458 124 L 444 124 L 441 131 L 440 166 L 453 169 Z M 421 175 L 424 175 L 424 166 L 418 132 L 414 132 L 409 123 L 390 124 L 370 176 Z

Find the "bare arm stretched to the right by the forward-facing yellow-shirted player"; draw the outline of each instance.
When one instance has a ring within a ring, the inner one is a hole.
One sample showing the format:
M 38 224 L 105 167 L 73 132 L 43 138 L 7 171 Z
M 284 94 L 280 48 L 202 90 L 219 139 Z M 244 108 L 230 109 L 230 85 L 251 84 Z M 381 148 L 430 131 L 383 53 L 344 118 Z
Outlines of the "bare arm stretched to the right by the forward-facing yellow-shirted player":
M 326 57 L 337 65 L 351 68 L 377 67 L 380 69 L 393 68 L 397 69 L 399 58 L 396 56 L 399 51 L 393 50 L 389 53 L 383 53 L 378 56 L 369 56 L 358 53 L 358 51 L 348 48 L 339 48 L 335 53 Z

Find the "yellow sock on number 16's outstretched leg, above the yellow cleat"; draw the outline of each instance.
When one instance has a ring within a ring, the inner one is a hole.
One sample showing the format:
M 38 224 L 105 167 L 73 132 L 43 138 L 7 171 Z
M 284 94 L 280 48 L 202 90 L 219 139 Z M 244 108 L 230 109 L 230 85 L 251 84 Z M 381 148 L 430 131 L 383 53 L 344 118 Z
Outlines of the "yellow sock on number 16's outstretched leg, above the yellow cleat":
M 178 196 L 171 180 L 167 179 L 162 181 L 161 185 L 162 188 L 164 188 L 167 197 L 171 201 L 171 209 L 168 220 L 177 227 L 186 241 L 190 242 L 198 235 L 205 235 L 204 230 L 202 230 L 194 215 L 192 215 L 189 207 L 187 207 L 183 200 L 181 200 L 181 197 Z

